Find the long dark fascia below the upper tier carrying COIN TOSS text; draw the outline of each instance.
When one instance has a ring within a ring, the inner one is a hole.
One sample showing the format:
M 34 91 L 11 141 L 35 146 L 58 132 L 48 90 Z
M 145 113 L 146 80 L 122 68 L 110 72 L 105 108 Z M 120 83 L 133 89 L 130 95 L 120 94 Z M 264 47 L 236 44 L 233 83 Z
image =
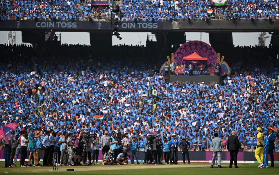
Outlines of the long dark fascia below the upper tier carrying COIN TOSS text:
M 108 32 L 104 21 L 0 20 L 2 31 L 52 30 L 67 32 Z M 173 22 L 123 22 L 121 32 L 278 32 L 279 21 L 255 20 L 179 20 Z

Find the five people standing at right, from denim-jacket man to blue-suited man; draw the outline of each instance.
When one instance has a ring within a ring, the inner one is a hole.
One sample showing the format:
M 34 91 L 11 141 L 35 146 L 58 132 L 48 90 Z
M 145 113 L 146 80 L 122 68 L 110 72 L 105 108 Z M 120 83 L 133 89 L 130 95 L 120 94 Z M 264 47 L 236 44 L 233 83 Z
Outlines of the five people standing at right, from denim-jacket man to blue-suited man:
M 275 134 L 273 129 L 269 129 L 268 131 L 262 131 L 262 128 L 257 128 L 257 146 L 255 150 L 255 158 L 257 159 L 259 166 L 258 168 L 263 167 L 274 167 L 274 156 L 273 151 Z M 214 163 L 216 157 L 218 155 L 218 168 L 221 168 L 221 151 L 223 142 L 220 138 L 218 138 L 218 133 L 214 133 L 214 139 L 212 140 L 212 148 L 213 148 L 213 156 L 211 167 L 214 167 Z M 232 131 L 232 135 L 228 138 L 227 149 L 230 151 L 230 165 L 232 168 L 232 163 L 234 162 L 235 168 L 237 166 L 237 153 L 240 150 L 240 143 L 238 137 L 236 136 L 236 132 Z M 268 155 L 270 155 L 271 166 L 268 166 Z

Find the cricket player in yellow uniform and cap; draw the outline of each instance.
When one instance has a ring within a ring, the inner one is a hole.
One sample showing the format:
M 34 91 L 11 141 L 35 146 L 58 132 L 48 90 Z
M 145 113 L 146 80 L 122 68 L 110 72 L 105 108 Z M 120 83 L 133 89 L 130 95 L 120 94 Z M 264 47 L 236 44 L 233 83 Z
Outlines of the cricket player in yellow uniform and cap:
M 258 168 L 262 168 L 262 166 L 264 165 L 264 134 L 261 132 L 261 128 L 257 128 L 257 147 L 256 147 L 256 151 L 255 151 L 255 158 L 257 159 L 257 161 L 259 162 L 259 166 Z

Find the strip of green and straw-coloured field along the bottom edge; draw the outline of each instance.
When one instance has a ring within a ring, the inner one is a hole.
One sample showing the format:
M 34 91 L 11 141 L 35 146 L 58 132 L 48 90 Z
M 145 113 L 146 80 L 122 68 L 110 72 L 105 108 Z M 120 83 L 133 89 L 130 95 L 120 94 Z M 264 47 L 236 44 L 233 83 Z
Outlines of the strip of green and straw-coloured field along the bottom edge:
M 274 168 L 257 168 L 255 163 L 238 164 L 239 168 L 229 168 L 228 163 L 222 164 L 223 168 L 209 168 L 210 163 L 191 163 L 191 165 L 117 165 L 117 166 L 59 166 L 58 171 L 53 171 L 52 167 L 15 167 L 4 168 L 4 162 L 0 162 L 0 174 L 121 174 L 121 175 L 179 175 L 179 174 L 222 174 L 222 175 L 249 175 L 249 174 L 279 174 L 279 165 Z M 233 166 L 234 167 L 234 166 Z M 66 169 L 75 169 L 74 172 L 66 172 Z

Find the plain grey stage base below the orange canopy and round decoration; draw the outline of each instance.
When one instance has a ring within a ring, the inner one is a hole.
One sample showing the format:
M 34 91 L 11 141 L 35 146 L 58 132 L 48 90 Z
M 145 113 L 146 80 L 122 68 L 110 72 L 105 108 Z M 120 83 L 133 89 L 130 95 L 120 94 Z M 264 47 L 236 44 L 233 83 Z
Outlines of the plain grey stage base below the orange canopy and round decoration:
M 184 85 L 186 82 L 204 82 L 209 84 L 215 84 L 216 82 L 220 84 L 220 76 L 210 76 L 210 75 L 200 75 L 200 76 L 187 76 L 187 75 L 171 75 L 169 77 L 170 82 L 179 82 L 180 85 Z

